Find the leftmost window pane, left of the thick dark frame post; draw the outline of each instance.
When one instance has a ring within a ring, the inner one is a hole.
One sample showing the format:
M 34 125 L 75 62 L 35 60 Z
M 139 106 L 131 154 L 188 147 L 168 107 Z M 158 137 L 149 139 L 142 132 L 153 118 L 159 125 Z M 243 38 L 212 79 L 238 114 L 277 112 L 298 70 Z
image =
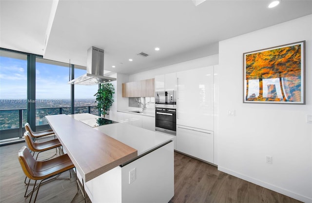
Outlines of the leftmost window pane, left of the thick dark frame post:
M 0 140 L 21 137 L 27 121 L 27 55 L 0 51 Z

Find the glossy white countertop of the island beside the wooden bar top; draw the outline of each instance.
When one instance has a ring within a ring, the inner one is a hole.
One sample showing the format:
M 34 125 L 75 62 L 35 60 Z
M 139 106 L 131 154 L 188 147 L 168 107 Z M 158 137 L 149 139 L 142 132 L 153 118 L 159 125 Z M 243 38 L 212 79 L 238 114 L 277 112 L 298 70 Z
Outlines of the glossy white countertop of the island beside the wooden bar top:
M 146 130 L 127 123 L 114 123 L 94 129 L 137 150 L 137 155 L 148 152 L 172 139 L 171 136 Z

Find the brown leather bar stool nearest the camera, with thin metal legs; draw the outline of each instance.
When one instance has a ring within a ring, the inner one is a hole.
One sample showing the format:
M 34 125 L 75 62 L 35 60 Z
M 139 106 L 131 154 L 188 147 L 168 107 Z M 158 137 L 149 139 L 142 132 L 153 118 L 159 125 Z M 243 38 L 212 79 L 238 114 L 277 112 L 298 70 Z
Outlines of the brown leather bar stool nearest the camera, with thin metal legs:
M 28 184 L 25 195 L 24 195 L 24 197 L 26 198 L 29 195 L 31 195 L 29 203 L 31 202 L 31 199 L 33 197 L 35 190 L 37 190 L 37 193 L 35 196 L 34 203 L 36 202 L 39 188 L 43 183 L 50 182 L 54 180 L 60 173 L 75 168 L 73 162 L 70 160 L 67 154 L 60 155 L 53 159 L 48 159 L 44 161 L 36 161 L 26 146 L 23 146 L 20 149 L 18 153 L 18 157 L 19 157 L 20 166 L 23 172 L 25 173 L 25 175 L 29 178 L 29 182 L 30 180 L 35 180 L 35 184 L 34 184 L 32 191 L 30 191 L 27 194 L 27 190 L 29 186 Z M 39 182 L 39 185 L 36 186 L 37 181 L 40 181 L 40 182 Z M 77 173 L 76 173 L 76 182 L 77 182 Z M 77 188 L 78 188 L 78 183 L 77 183 Z M 76 195 L 78 194 L 78 191 Z M 73 199 L 76 197 L 76 195 L 73 197 Z

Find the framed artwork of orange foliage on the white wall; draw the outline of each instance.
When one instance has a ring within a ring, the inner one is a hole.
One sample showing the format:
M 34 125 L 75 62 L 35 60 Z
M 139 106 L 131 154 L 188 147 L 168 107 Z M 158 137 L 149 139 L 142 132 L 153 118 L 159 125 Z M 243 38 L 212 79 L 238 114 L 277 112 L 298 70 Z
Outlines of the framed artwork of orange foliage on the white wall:
M 244 103 L 305 104 L 305 41 L 243 55 Z

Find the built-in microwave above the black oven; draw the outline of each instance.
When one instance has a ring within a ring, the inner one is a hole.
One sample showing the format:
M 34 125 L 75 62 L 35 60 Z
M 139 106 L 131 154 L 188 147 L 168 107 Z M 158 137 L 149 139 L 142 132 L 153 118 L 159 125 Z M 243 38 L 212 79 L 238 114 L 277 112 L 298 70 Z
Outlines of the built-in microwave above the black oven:
M 176 91 L 155 92 L 155 107 L 176 108 Z

